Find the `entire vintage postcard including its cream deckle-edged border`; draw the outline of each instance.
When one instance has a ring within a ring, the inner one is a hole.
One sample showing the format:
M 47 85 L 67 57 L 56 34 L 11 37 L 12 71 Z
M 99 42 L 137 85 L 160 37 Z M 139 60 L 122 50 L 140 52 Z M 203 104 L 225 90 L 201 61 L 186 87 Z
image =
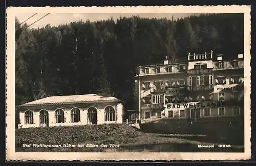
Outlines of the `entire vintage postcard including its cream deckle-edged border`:
M 251 157 L 250 6 L 9 7 L 6 158 Z

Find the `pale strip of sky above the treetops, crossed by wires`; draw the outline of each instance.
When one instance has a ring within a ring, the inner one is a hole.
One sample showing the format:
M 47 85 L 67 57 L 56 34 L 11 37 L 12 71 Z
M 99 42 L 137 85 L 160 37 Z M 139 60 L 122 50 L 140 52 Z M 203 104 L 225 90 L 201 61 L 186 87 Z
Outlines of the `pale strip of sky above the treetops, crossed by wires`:
M 19 13 L 16 15 L 16 18 L 19 20 L 20 23 L 28 19 L 30 16 L 32 16 L 35 13 Z M 43 17 L 47 13 L 38 13 L 35 16 L 31 17 L 26 21 L 28 25 L 33 23 L 34 21 L 38 20 L 39 18 Z M 164 18 L 167 19 L 174 19 L 177 18 L 184 18 L 188 17 L 190 15 L 200 15 L 199 13 L 193 14 L 193 13 L 51 13 L 47 15 L 46 17 L 40 19 L 38 22 L 31 25 L 31 28 L 38 28 L 38 27 L 44 27 L 47 24 L 50 24 L 51 26 L 58 26 L 60 24 L 66 24 L 73 21 L 87 21 L 88 19 L 90 21 L 98 21 L 98 20 L 104 20 L 104 19 L 111 19 L 117 20 L 121 17 L 131 17 L 133 15 L 138 15 L 139 17 L 145 17 L 145 18 Z M 24 22 L 25 23 L 25 22 Z M 24 24 L 23 23 L 23 24 Z

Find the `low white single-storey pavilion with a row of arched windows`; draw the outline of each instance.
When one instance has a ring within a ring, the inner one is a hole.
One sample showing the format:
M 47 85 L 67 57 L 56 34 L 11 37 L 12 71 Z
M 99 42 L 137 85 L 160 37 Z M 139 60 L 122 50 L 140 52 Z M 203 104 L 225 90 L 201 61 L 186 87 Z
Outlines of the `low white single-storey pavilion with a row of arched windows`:
M 123 101 L 105 94 L 51 96 L 17 106 L 18 128 L 122 123 Z

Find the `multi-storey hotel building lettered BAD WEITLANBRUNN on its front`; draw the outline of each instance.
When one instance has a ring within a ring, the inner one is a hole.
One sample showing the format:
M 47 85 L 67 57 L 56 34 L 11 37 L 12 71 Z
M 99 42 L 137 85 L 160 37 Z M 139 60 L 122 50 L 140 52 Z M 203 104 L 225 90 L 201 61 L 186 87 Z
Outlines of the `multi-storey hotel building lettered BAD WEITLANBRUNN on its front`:
M 187 61 L 139 66 L 135 93 L 141 122 L 160 118 L 207 119 L 243 114 L 243 54 L 223 61 L 212 51 Z M 214 60 L 217 58 L 217 60 Z

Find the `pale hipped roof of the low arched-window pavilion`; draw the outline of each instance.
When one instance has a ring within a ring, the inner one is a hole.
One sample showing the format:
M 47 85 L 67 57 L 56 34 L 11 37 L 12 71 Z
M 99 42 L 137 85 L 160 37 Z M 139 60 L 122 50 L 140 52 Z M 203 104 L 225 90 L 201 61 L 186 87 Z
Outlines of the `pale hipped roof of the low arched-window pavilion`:
M 92 102 L 115 102 L 115 101 L 123 102 L 107 94 L 87 94 L 87 95 L 69 95 L 69 96 L 50 96 L 50 97 L 31 101 L 18 106 L 82 104 L 82 103 L 92 103 Z

